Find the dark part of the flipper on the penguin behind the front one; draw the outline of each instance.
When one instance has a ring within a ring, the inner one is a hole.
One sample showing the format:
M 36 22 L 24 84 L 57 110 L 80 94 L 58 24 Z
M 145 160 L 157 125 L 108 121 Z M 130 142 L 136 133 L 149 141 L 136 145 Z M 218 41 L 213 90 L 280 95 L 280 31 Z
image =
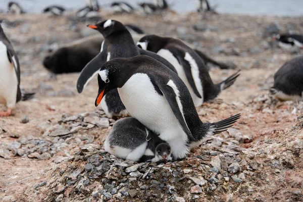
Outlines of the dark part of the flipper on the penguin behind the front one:
M 189 62 L 186 61 L 186 60 L 184 60 L 184 57 L 180 57 L 181 55 L 183 55 L 182 52 L 178 53 L 178 50 L 175 47 L 172 47 L 172 48 L 168 47 L 167 49 L 168 49 L 169 52 L 171 52 L 173 54 L 173 56 L 175 58 L 178 59 L 180 65 L 183 67 L 184 72 L 185 72 L 185 76 L 186 76 L 186 78 L 188 80 L 188 83 L 191 86 L 194 94 L 197 97 L 202 98 L 201 95 L 200 95 L 200 93 L 198 92 L 198 89 L 197 89 L 195 83 L 194 83 L 194 79 L 192 77 L 191 67 L 190 67 Z

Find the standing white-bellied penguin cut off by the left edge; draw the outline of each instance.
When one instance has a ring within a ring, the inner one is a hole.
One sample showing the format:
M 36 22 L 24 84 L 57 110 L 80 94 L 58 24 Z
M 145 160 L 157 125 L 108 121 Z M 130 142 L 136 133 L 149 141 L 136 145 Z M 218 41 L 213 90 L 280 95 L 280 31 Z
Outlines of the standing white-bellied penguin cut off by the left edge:
M 0 25 L 0 104 L 5 104 L 7 112 L 0 111 L 0 116 L 12 115 L 12 109 L 21 99 L 32 98 L 34 93 L 21 94 L 20 67 L 14 48 Z

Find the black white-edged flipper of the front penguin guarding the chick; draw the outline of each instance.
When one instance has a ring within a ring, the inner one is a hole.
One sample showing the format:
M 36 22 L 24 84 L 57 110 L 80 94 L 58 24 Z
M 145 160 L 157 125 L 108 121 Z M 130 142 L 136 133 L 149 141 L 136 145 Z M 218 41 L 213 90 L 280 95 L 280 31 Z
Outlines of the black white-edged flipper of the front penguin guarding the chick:
M 185 132 L 189 140 L 195 140 L 193 135 L 191 134 L 184 115 L 183 115 L 183 109 L 181 105 L 181 101 L 179 100 L 179 90 L 177 89 L 176 85 L 171 80 L 165 84 L 162 83 L 163 78 L 155 78 L 156 85 L 159 87 L 160 91 L 163 93 L 164 97 L 166 98 L 172 112 L 174 113 L 175 117 L 178 120 L 179 125 L 181 126 L 182 130 Z

